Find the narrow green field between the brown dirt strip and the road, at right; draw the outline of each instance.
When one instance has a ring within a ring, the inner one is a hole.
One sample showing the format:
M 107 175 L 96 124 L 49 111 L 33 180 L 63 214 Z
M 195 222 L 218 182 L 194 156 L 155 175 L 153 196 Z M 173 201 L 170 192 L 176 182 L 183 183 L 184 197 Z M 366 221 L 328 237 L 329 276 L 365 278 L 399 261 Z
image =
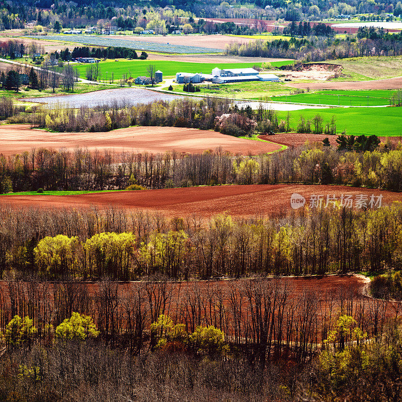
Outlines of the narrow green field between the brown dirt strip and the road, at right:
M 276 96 L 273 101 L 311 103 L 315 105 L 338 106 L 382 106 L 389 105 L 392 91 L 317 91 L 290 96 Z

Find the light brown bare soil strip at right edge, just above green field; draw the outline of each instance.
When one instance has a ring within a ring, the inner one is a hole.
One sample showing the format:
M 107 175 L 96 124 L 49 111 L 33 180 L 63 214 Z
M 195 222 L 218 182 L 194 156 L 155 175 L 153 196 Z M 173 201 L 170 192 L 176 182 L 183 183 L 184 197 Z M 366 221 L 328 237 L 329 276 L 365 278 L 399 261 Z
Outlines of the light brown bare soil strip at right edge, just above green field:
M 394 90 L 402 88 L 402 77 L 373 79 L 372 81 L 344 81 L 320 83 L 287 83 L 288 87 L 320 90 Z

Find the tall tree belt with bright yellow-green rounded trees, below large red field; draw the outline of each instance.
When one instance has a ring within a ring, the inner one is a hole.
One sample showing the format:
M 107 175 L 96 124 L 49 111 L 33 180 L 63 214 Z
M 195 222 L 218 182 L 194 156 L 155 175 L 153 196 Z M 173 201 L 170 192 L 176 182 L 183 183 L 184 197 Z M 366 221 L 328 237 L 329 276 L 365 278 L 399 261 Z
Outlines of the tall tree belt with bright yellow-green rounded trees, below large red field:
M 401 269 L 400 205 L 378 208 L 366 197 L 352 209 L 331 197 L 318 206 L 312 200 L 307 211 L 282 211 L 280 219 L 218 215 L 207 221 L 115 208 L 3 206 L 0 277 L 133 280 L 162 274 L 188 280 Z

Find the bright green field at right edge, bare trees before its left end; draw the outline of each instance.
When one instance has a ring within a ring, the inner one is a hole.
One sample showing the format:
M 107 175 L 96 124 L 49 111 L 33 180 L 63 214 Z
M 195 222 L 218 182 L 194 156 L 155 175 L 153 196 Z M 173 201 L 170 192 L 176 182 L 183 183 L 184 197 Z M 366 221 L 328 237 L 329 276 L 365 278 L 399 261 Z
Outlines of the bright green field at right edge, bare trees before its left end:
M 278 112 L 278 118 L 284 120 L 286 114 L 287 112 Z M 296 129 L 300 115 L 312 119 L 317 114 L 323 117 L 323 126 L 335 116 L 337 133 L 346 129 L 347 135 L 402 136 L 400 107 L 305 109 L 290 112 L 290 125 Z

